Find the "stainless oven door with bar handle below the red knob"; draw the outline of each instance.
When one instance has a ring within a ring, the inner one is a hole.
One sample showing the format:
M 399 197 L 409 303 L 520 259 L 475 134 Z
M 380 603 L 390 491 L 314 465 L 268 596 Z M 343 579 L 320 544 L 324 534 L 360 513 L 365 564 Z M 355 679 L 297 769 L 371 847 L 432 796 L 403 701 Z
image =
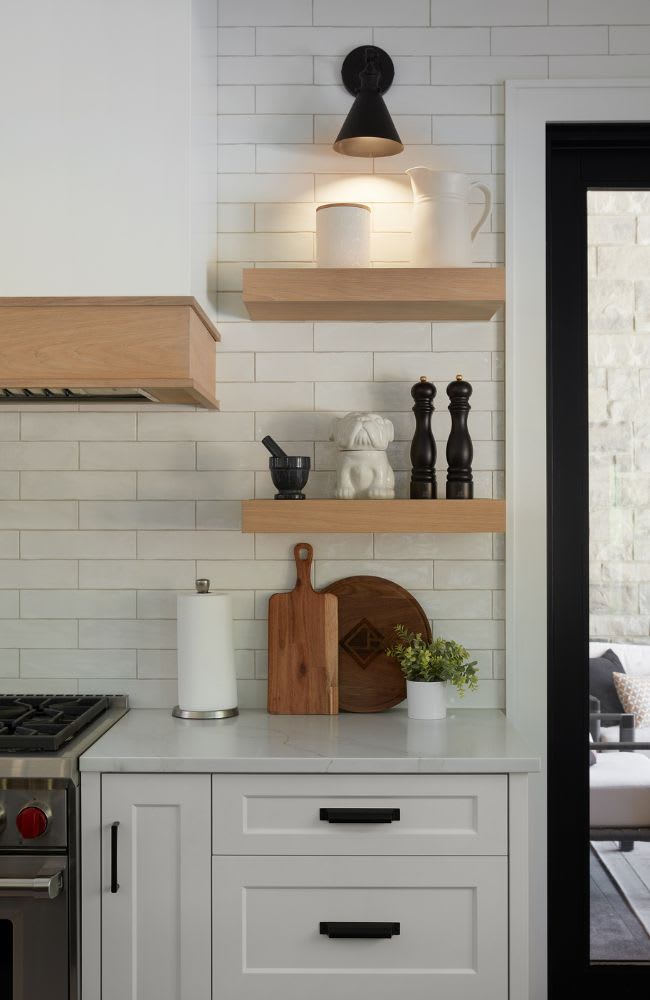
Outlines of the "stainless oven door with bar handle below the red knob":
M 69 908 L 65 855 L 0 856 L 2 1000 L 68 1000 Z

